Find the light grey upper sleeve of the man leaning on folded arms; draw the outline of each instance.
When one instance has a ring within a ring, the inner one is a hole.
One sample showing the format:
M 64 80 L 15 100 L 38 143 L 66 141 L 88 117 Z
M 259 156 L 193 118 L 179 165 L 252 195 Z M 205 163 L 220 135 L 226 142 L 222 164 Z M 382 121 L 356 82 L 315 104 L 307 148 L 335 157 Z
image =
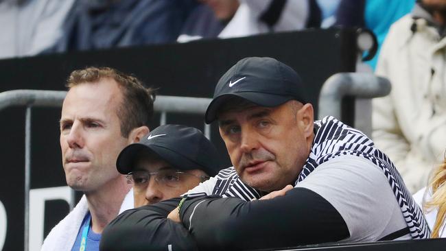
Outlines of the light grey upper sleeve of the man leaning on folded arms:
M 357 156 L 339 156 L 323 163 L 296 187 L 325 198 L 346 222 L 344 241 L 377 241 L 407 224 L 382 169 Z

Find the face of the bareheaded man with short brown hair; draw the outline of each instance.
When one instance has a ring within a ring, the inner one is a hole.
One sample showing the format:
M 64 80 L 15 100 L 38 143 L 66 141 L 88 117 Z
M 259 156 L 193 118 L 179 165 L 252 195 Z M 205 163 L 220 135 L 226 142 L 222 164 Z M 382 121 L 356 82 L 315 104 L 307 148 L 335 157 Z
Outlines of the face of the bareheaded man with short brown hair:
M 62 164 L 69 187 L 93 192 L 122 178 L 116 159 L 128 145 L 117 109 L 123 99 L 114 80 L 73 86 L 60 118 Z

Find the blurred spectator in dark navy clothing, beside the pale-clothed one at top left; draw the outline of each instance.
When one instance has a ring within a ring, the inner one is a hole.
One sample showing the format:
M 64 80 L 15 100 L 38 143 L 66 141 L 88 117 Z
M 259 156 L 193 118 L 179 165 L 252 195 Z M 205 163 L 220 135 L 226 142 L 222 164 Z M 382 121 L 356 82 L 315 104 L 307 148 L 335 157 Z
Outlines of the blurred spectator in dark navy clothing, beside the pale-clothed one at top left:
M 51 51 L 174 42 L 195 0 L 78 0 Z

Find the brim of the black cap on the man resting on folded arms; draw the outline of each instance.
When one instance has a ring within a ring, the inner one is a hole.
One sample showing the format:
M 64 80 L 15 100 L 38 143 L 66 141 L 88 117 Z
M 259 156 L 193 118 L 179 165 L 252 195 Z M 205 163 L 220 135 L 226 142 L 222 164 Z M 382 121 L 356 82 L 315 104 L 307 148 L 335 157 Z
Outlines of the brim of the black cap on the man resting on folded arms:
M 292 96 L 274 95 L 270 93 L 259 93 L 259 92 L 241 92 L 241 93 L 228 93 L 215 97 L 209 106 L 207 107 L 206 114 L 204 115 L 204 121 L 206 123 L 212 123 L 217 119 L 217 112 L 220 107 L 226 103 L 231 97 L 241 97 L 246 99 L 258 106 L 274 107 L 279 106 L 286 101 L 296 99 Z

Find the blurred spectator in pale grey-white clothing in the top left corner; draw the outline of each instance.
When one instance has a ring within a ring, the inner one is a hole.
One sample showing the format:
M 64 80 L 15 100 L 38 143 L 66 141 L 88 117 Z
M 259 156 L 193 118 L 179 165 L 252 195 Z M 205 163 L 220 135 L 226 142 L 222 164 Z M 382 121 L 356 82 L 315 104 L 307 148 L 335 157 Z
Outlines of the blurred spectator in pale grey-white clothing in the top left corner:
M 53 46 L 75 0 L 0 0 L 0 58 L 32 56 Z

